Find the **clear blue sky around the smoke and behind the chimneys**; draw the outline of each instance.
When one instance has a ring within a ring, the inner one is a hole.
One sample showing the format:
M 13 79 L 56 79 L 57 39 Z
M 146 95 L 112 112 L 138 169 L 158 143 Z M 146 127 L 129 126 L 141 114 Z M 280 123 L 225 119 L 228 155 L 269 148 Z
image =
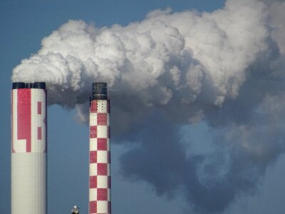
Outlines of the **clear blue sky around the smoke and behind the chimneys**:
M 82 19 L 95 26 L 128 25 L 145 19 L 155 9 L 172 11 L 214 11 L 224 1 L 0 1 L 0 207 L 10 213 L 10 90 L 11 72 L 22 59 L 41 48 L 41 39 L 69 19 Z M 88 212 L 88 126 L 76 122 L 76 111 L 61 106 L 48 107 L 48 213 L 68 213 L 77 204 L 81 213 Z M 193 148 L 207 150 L 211 136 L 205 123 L 184 126 L 182 133 Z M 139 136 L 139 135 L 138 135 Z M 120 168 L 120 156 L 128 151 L 130 138 L 118 136 L 112 141 L 112 211 L 113 213 L 189 213 L 189 200 L 181 190 L 156 193 L 143 179 L 126 179 Z M 199 142 L 202 146 L 199 147 Z M 195 146 L 196 144 L 196 146 Z M 128 161 L 128 158 L 125 159 Z M 249 195 L 239 194 L 224 213 L 282 213 L 285 205 L 285 156 L 276 156 L 264 177 Z M 194 211 L 193 211 L 194 212 Z M 195 212 L 194 212 L 195 213 Z

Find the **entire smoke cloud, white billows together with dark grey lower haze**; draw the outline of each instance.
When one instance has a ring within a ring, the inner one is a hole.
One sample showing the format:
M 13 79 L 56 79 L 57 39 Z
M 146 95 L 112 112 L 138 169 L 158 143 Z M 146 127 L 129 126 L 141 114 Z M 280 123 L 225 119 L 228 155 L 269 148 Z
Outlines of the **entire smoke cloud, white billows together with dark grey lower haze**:
M 106 81 L 115 142 L 133 143 L 123 175 L 220 213 L 254 193 L 285 149 L 284 10 L 283 1 L 228 0 L 212 13 L 157 10 L 128 26 L 68 21 L 12 81 L 46 81 L 49 104 L 77 108 L 81 121 L 91 83 Z M 204 149 L 187 140 L 196 123 L 212 138 Z

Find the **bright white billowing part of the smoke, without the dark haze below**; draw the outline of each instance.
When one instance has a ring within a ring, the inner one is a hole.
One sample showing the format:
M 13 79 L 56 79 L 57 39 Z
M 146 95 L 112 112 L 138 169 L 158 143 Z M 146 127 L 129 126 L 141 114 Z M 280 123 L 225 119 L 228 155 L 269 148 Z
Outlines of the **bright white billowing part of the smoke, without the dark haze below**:
M 246 68 L 267 49 L 264 7 L 238 2 L 212 14 L 153 11 L 125 27 L 69 21 L 14 68 L 12 80 L 46 81 L 50 103 L 71 107 L 86 102 L 93 81 L 138 96 L 145 107 L 172 98 L 221 106 L 237 96 Z

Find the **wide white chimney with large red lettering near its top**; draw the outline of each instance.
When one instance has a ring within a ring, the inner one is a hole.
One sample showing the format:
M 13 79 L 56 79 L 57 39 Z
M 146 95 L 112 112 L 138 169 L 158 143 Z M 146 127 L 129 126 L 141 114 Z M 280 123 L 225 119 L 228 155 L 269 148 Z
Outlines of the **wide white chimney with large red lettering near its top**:
M 11 213 L 46 214 L 46 83 L 13 83 Z

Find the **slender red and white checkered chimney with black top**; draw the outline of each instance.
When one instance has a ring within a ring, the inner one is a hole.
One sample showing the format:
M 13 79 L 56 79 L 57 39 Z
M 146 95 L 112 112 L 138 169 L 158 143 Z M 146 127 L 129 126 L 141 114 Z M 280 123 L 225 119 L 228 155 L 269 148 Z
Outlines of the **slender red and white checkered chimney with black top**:
M 110 101 L 107 83 L 93 83 L 90 98 L 89 213 L 109 214 Z

